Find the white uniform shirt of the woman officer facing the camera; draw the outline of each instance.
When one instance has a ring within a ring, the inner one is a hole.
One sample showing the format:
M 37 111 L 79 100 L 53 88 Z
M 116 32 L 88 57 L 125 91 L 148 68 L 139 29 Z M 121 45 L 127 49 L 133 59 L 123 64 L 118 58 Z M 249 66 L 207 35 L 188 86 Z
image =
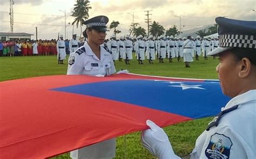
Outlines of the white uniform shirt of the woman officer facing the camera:
M 70 54 L 67 74 L 110 75 L 114 72 L 116 68 L 114 68 L 111 53 L 107 52 L 103 46 L 100 46 L 100 60 L 87 42 Z

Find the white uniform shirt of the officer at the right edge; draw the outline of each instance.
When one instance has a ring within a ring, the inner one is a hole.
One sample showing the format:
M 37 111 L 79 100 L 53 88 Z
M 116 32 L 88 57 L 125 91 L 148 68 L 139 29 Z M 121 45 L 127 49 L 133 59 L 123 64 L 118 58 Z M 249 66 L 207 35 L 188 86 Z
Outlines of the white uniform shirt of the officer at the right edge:
M 221 117 L 217 127 L 198 137 L 191 158 L 256 158 L 256 89 L 235 96 L 223 110 L 236 105 L 237 109 Z

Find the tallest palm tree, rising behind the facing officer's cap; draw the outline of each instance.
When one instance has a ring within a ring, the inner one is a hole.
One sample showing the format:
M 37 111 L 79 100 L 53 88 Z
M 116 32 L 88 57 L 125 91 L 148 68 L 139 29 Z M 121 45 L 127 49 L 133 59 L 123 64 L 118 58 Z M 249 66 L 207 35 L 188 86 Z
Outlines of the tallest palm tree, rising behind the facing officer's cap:
M 91 6 L 89 6 L 90 1 L 88 0 L 77 0 L 77 3 L 74 4 L 75 8 L 72 11 L 72 15 L 73 17 L 75 17 L 74 22 L 72 22 L 72 25 L 74 25 L 76 23 L 76 26 L 78 27 L 79 23 L 80 23 L 80 36 L 82 35 L 82 23 L 84 22 L 84 19 L 88 19 L 89 18 L 89 9 L 91 9 Z

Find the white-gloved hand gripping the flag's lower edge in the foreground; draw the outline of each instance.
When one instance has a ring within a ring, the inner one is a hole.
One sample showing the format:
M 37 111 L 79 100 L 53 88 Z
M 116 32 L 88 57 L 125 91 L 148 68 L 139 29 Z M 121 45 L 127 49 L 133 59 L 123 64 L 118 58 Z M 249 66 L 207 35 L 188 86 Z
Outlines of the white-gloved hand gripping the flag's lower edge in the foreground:
M 142 131 L 141 142 L 143 147 L 159 159 L 180 158 L 174 154 L 171 143 L 164 130 L 151 120 L 147 120 L 146 124 L 150 129 Z

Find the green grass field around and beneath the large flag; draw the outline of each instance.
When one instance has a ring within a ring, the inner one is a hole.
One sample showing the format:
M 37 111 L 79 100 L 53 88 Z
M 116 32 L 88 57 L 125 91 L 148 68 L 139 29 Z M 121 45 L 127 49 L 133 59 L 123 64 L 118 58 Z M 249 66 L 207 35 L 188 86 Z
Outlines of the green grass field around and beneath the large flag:
M 67 57 L 68 59 L 68 57 Z M 191 68 L 185 68 L 184 63 L 173 60 L 169 63 L 165 59 L 165 63 L 153 61 L 150 65 L 146 60 L 144 65 L 138 65 L 137 60 L 132 60 L 131 65 L 125 65 L 124 61 L 116 61 L 116 70 L 127 69 L 131 73 L 159 75 L 164 77 L 180 77 L 180 78 L 201 78 L 201 79 L 217 79 L 215 67 L 218 60 L 194 61 Z M 44 75 L 66 74 L 68 60 L 65 65 L 57 64 L 56 56 L 36 56 L 36 57 L 0 57 L 0 81 L 38 77 Z M 189 106 L 189 105 L 188 105 Z M 165 132 L 169 136 L 175 153 L 179 156 L 185 156 L 191 153 L 194 148 L 197 137 L 204 131 L 208 122 L 212 117 L 198 119 L 176 125 L 165 127 Z M 21 156 L 22 158 L 22 156 Z M 70 158 L 69 154 L 58 155 L 52 158 Z M 117 138 L 116 158 L 155 158 L 140 144 L 140 132 L 127 134 Z

